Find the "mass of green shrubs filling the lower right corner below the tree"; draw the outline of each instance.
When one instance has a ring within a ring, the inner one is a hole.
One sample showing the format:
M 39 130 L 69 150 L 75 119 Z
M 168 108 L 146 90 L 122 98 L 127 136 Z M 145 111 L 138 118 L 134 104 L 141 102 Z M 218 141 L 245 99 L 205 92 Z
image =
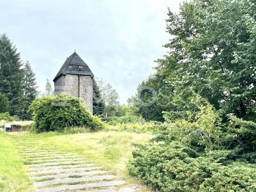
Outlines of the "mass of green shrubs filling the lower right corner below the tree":
M 217 111 L 197 99 L 192 116 L 167 114 L 166 129 L 137 146 L 130 174 L 164 192 L 256 191 L 256 124 L 231 116 L 221 125 Z

